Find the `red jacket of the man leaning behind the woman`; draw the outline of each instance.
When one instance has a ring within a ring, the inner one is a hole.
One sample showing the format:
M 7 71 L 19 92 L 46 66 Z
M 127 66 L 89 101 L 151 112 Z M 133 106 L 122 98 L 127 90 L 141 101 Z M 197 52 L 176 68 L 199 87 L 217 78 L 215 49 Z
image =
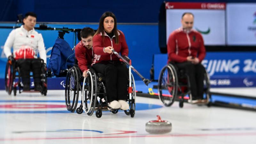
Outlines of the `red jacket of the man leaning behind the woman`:
M 87 70 L 87 66 L 92 64 L 92 48 L 88 50 L 81 41 L 75 47 L 75 56 L 78 61 L 78 67 L 82 70 L 82 72 Z

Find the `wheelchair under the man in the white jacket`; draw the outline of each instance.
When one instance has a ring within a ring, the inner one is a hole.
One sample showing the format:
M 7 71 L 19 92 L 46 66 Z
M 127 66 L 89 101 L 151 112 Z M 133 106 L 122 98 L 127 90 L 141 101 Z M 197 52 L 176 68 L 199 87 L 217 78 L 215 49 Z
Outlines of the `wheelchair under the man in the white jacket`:
M 38 58 L 39 59 L 39 58 Z M 41 85 L 42 91 L 41 94 L 46 96 L 47 93 L 47 76 L 46 76 L 46 68 L 44 67 L 44 60 L 39 59 L 42 62 L 42 77 L 41 77 Z M 19 87 L 19 93 L 23 92 L 23 85 L 20 80 L 20 67 L 16 60 L 7 60 L 6 68 L 5 68 L 5 91 L 11 95 L 12 90 L 14 96 L 17 93 L 17 87 Z M 30 75 L 31 77 L 31 75 Z M 17 79 L 16 79 L 17 78 Z M 30 88 L 33 90 L 34 88 Z M 36 92 L 36 91 L 30 91 Z

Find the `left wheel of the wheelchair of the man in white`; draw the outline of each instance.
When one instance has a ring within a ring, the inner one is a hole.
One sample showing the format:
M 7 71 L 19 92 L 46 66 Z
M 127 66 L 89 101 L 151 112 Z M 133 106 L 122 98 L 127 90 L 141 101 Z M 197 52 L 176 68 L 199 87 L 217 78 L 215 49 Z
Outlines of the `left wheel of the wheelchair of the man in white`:
M 8 60 L 5 68 L 5 91 L 11 95 L 13 88 L 13 79 L 15 79 L 14 62 Z

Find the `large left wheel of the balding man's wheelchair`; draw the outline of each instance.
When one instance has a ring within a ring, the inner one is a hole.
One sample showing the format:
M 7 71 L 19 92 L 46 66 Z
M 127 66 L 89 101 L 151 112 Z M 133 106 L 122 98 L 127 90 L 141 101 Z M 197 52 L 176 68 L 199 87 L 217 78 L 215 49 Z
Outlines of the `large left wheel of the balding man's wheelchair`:
M 165 106 L 173 104 L 178 89 L 178 76 L 173 65 L 168 64 L 162 68 L 158 78 L 158 95 L 159 99 Z

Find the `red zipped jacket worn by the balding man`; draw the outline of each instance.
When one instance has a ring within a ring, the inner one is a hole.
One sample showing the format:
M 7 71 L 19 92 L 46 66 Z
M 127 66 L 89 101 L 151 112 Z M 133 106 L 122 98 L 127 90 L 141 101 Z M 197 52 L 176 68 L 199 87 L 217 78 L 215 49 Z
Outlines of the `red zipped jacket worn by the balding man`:
M 206 53 L 202 35 L 193 29 L 186 32 L 182 27 L 170 34 L 167 52 L 168 62 L 185 62 L 188 56 L 197 57 L 201 62 Z

